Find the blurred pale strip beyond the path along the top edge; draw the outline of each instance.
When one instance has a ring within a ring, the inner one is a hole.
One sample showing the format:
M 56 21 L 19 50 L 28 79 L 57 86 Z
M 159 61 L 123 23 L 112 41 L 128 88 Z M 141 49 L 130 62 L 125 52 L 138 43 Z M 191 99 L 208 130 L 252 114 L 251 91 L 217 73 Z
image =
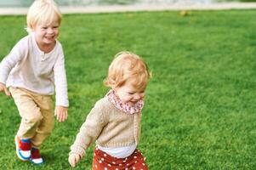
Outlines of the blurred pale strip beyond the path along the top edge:
M 33 0 L 0 1 L 0 7 L 28 7 Z M 256 2 L 256 0 L 55 0 L 60 6 L 104 6 L 104 5 L 159 5 L 175 3 L 226 3 L 226 2 Z

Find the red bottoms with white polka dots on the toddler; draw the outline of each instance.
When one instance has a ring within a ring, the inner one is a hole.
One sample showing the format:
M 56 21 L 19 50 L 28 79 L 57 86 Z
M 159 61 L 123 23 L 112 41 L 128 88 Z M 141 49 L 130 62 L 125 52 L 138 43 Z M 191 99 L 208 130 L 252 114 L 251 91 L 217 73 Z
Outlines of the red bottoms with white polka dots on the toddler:
M 140 150 L 135 150 L 131 156 L 116 158 L 108 155 L 97 147 L 94 149 L 93 170 L 148 170 L 145 158 Z

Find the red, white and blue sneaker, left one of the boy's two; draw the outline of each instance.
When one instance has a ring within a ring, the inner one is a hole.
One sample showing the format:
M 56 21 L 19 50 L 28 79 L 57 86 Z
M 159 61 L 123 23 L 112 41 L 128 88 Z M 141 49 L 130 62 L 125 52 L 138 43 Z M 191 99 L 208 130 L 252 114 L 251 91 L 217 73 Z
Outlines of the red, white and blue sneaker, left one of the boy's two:
M 15 136 L 16 154 L 22 161 L 28 161 L 31 157 L 31 140 L 20 139 Z

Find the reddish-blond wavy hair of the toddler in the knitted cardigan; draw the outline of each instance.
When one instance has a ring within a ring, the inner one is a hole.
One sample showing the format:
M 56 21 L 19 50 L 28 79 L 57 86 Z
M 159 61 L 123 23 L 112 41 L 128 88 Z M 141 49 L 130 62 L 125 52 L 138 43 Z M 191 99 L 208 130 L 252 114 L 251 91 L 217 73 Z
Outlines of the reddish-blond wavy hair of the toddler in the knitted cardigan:
M 111 62 L 105 85 L 119 88 L 126 82 L 130 82 L 134 88 L 145 89 L 150 77 L 145 61 L 138 55 L 125 51 L 116 54 Z

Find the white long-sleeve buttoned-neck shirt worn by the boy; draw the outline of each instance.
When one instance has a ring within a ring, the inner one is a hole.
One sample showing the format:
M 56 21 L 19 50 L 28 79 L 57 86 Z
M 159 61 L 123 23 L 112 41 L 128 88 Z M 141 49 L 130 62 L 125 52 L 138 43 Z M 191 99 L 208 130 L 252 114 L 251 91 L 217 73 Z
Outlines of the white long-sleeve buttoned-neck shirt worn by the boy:
M 44 54 L 33 34 L 23 37 L 1 62 L 0 82 L 43 95 L 53 95 L 55 88 L 55 105 L 69 105 L 65 59 L 58 41 L 51 52 Z

